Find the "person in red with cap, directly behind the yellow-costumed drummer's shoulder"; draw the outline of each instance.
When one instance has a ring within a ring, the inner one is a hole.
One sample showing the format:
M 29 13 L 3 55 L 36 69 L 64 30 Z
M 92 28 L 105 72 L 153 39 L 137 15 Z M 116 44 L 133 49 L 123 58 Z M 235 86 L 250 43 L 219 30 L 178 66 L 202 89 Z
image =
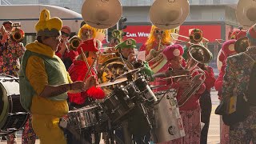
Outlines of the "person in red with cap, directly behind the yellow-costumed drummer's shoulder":
M 62 39 L 61 43 L 58 46 L 56 55 L 62 59 L 64 65 L 66 66 L 66 70 L 68 70 L 70 65 L 74 61 L 74 58 L 78 56 L 78 51 L 70 49 L 70 43 L 68 42 L 71 34 L 70 27 L 62 26 L 61 33 Z

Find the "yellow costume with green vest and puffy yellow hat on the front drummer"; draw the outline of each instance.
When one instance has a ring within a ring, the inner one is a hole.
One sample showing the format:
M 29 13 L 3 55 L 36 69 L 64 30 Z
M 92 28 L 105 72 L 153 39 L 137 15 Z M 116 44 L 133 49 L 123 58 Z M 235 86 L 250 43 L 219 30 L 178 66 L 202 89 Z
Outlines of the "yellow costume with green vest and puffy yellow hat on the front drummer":
M 58 37 L 61 28 L 61 19 L 50 18 L 49 10 L 42 10 L 39 22 L 35 26 L 38 36 Z M 40 142 L 65 144 L 66 138 L 58 123 L 59 118 L 68 113 L 67 94 L 50 98 L 39 96 L 47 85 L 56 86 L 71 82 L 62 60 L 55 55 L 50 46 L 38 41 L 32 42 L 26 46 L 22 58 L 20 79 L 22 77 L 28 81 L 23 81 L 26 85 L 22 85 L 20 90 L 27 90 L 26 86 L 31 86 L 34 90 L 30 111 L 33 129 Z

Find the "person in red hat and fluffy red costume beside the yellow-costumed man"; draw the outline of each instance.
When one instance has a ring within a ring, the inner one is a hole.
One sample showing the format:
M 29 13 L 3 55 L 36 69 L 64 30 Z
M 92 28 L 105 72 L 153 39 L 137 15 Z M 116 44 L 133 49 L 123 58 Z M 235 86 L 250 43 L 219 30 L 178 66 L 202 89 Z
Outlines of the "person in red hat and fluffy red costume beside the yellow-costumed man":
M 88 66 L 92 66 L 94 63 L 94 58 L 97 58 L 98 48 L 96 47 L 96 39 L 92 38 L 89 40 L 86 40 L 78 46 L 78 57 L 74 60 L 73 64 L 70 66 L 70 69 L 68 70 L 70 74 L 70 78 L 73 82 L 76 81 L 83 81 L 86 77 L 86 74 L 88 76 L 86 78 L 89 78 L 90 76 L 94 76 L 94 78 L 97 78 L 97 74 L 95 74 L 94 69 L 90 69 Z M 83 56 L 86 56 L 84 58 Z M 88 62 L 88 66 L 86 64 Z M 68 94 L 69 96 L 69 102 L 71 110 L 75 108 L 81 108 L 83 106 L 88 106 L 91 104 L 90 100 L 88 98 L 95 99 L 102 99 L 105 98 L 105 93 L 101 88 L 91 87 L 89 90 L 86 90 L 81 93 L 77 94 Z M 90 138 L 90 133 L 83 131 L 84 137 L 88 142 L 92 142 L 92 139 Z M 72 142 L 74 140 L 68 140 L 69 142 Z M 96 143 L 100 142 L 100 138 L 95 135 L 95 141 Z

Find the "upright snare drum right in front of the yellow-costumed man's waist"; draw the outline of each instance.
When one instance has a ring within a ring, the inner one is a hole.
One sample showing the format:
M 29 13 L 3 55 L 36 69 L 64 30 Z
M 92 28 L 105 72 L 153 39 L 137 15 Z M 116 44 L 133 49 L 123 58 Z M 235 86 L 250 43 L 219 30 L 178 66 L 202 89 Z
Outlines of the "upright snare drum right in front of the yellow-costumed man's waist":
M 71 110 L 67 114 L 67 122 L 75 129 L 89 128 L 102 122 L 99 106 L 86 106 L 78 110 Z

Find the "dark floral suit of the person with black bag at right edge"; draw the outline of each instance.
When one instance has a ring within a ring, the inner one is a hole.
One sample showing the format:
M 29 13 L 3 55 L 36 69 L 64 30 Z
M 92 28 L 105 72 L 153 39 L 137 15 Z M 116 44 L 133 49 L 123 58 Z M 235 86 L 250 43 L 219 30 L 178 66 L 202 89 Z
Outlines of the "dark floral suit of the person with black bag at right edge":
M 247 32 L 247 37 L 251 42 L 244 53 L 236 54 L 227 58 L 226 74 L 223 78 L 222 98 L 224 100 L 231 97 L 242 97 L 248 100 L 248 86 L 250 81 L 250 73 L 256 60 L 256 25 L 251 26 Z M 254 59 L 254 61 L 252 59 Z M 242 122 L 237 122 L 230 126 L 230 142 L 231 143 L 250 143 L 255 140 L 255 106 L 250 105 L 250 114 Z

